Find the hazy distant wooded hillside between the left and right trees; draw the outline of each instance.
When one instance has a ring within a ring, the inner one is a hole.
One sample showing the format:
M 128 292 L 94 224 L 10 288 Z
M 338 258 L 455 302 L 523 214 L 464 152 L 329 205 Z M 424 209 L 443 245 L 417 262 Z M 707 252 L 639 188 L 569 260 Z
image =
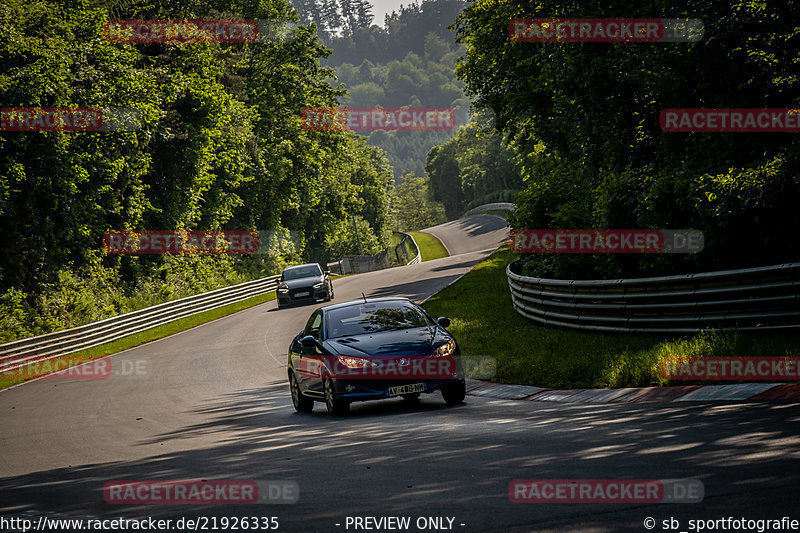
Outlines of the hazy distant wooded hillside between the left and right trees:
M 329 0 L 336 4 L 334 0 Z M 454 68 L 461 50 L 447 26 L 465 5 L 461 0 L 425 0 L 401 6 L 387 16 L 386 28 L 342 25 L 331 30 L 316 0 L 296 0 L 303 20 L 318 21 L 325 43 L 334 50 L 327 63 L 347 88 L 340 97 L 350 107 L 468 107 L 463 84 Z M 355 4 L 339 0 L 338 12 L 352 12 Z M 326 29 L 327 28 L 327 29 Z M 369 143 L 386 151 L 395 180 L 425 172 L 428 151 L 447 141 L 453 132 L 373 132 Z

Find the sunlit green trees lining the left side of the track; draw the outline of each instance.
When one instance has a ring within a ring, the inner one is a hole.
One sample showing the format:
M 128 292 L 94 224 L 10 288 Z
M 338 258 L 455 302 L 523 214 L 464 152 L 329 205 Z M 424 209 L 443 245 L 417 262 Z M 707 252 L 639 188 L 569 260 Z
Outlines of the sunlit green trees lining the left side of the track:
M 252 44 L 126 44 L 109 19 L 292 22 L 286 0 L 0 0 L 5 106 L 128 108 L 135 131 L 0 135 L 0 306 L 6 338 L 68 327 L 330 256 L 352 215 L 391 233 L 391 169 L 363 139 L 301 127 L 343 90 L 313 27 Z M 363 6 L 362 6 L 363 7 Z M 356 10 L 358 11 L 358 9 Z M 114 256 L 103 234 L 247 229 L 299 236 L 296 254 Z

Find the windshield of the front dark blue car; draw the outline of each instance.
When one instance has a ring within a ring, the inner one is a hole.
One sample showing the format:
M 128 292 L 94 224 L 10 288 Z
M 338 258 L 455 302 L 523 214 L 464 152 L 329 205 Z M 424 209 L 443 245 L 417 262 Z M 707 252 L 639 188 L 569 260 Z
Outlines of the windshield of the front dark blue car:
M 433 324 L 428 316 L 407 302 L 367 302 L 331 309 L 327 323 L 328 338 Z

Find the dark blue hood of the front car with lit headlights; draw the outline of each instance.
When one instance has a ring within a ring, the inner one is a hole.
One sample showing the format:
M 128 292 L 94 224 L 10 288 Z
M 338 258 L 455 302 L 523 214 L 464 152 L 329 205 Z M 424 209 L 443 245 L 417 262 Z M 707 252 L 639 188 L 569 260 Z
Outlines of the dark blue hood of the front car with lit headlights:
M 397 356 L 427 355 L 434 347 L 451 339 L 449 333 L 436 326 L 396 331 L 381 331 L 328 339 L 326 344 L 337 355 Z

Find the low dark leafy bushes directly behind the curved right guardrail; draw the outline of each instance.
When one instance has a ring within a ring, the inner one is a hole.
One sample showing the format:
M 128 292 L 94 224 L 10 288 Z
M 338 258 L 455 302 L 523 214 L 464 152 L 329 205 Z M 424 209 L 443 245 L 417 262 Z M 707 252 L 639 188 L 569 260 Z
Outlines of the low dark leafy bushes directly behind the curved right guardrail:
M 549 163 L 519 194 L 514 228 L 699 229 L 698 254 L 531 255 L 526 275 L 562 279 L 641 277 L 797 261 L 800 168 L 794 154 L 752 168 L 697 175 L 653 167 L 594 179 Z

